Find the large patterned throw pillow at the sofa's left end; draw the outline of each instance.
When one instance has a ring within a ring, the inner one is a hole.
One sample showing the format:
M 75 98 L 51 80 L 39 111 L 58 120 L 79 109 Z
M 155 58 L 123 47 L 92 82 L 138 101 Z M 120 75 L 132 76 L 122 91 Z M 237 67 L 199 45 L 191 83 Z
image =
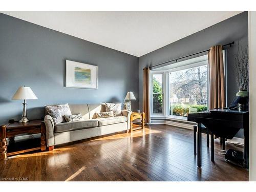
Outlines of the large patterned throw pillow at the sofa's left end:
M 45 105 L 46 111 L 52 117 L 54 124 L 66 122 L 64 115 L 72 115 L 69 104 Z

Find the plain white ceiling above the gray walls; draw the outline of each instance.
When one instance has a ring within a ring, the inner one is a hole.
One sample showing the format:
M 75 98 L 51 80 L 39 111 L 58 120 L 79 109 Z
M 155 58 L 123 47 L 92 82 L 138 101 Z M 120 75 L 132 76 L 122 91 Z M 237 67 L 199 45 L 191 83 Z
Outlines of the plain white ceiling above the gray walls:
M 2 11 L 2 13 L 140 57 L 241 11 Z

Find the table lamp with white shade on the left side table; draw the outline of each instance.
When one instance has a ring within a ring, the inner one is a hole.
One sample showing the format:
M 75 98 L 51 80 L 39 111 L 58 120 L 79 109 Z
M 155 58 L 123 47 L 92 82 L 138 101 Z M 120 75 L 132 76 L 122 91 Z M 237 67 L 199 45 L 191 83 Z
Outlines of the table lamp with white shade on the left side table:
M 30 87 L 19 87 L 16 93 L 12 97 L 13 100 L 24 100 L 23 103 L 23 113 L 22 113 L 22 119 L 19 120 L 20 123 L 26 123 L 29 122 L 27 119 L 27 109 L 26 109 L 26 100 L 28 99 L 37 99 L 33 91 L 30 89 Z

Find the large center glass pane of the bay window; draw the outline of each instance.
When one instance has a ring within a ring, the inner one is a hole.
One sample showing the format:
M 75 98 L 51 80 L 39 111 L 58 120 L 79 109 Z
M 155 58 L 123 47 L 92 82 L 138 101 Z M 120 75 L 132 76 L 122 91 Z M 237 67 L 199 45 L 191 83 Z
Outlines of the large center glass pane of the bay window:
M 207 110 L 207 65 L 169 74 L 170 115 Z

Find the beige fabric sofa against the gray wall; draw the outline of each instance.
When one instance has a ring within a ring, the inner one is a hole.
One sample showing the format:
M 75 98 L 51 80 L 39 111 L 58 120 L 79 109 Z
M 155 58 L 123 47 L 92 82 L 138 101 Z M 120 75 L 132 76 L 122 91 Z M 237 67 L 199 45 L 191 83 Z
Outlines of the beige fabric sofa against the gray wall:
M 84 120 L 54 125 L 52 117 L 46 114 L 46 138 L 49 150 L 53 150 L 53 146 L 57 144 L 130 129 L 130 111 L 122 110 L 122 116 L 97 119 L 95 113 L 105 112 L 104 104 L 69 104 L 69 107 L 72 114 L 80 113 Z

